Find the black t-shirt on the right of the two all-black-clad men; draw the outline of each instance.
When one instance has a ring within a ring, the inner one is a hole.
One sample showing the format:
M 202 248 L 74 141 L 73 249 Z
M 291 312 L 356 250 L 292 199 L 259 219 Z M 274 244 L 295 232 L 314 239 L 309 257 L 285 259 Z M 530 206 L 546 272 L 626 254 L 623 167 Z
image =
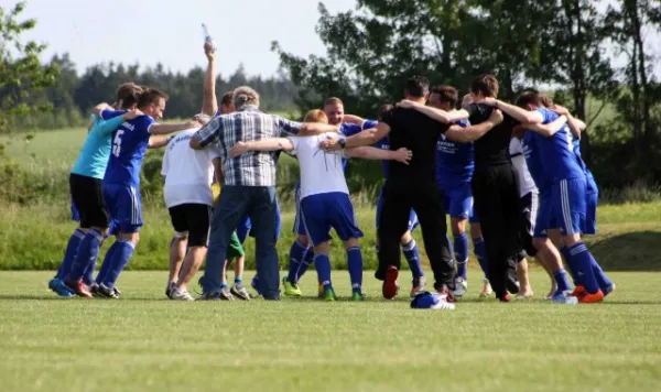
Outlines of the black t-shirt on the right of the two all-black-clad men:
M 468 120 L 472 126 L 487 121 L 494 111 L 492 107 L 485 104 L 470 104 L 464 109 L 470 115 Z M 476 170 L 511 162 L 509 143 L 512 138 L 512 129 L 518 122 L 507 113 L 502 115 L 503 119 L 501 123 L 475 141 Z

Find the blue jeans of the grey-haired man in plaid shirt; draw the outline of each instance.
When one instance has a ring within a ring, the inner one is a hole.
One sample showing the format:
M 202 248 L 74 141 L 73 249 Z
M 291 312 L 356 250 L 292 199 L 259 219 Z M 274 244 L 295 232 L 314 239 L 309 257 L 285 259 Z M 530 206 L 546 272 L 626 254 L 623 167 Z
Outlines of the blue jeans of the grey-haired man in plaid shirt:
M 280 296 L 280 265 L 274 241 L 275 208 L 274 186 L 223 186 L 212 218 L 204 277 L 205 293 L 220 291 L 227 244 L 241 218 L 249 216 L 256 243 L 259 290 L 267 300 Z

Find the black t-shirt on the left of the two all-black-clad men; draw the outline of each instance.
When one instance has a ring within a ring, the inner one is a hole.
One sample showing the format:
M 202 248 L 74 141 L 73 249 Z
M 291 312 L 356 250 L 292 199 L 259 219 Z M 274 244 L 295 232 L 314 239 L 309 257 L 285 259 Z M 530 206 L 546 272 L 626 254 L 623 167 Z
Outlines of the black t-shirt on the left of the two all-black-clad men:
M 431 182 L 436 181 L 436 143 L 441 133 L 449 126 L 435 121 L 414 110 L 395 108 L 383 112 L 381 122 L 390 127 L 388 141 L 390 150 L 401 148 L 413 152 L 409 165 L 389 161 L 389 181 L 391 182 Z

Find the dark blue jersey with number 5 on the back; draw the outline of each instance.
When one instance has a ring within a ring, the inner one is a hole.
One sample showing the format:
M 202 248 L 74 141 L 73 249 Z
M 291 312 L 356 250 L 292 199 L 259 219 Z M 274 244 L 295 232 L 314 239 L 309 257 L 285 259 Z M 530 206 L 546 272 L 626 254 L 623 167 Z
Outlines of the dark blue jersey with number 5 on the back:
M 123 111 L 104 110 L 101 118 L 111 119 L 121 115 Z M 140 116 L 122 123 L 112 132 L 112 150 L 104 177 L 105 184 L 140 186 L 140 168 L 151 135 L 149 129 L 154 122 L 149 116 Z

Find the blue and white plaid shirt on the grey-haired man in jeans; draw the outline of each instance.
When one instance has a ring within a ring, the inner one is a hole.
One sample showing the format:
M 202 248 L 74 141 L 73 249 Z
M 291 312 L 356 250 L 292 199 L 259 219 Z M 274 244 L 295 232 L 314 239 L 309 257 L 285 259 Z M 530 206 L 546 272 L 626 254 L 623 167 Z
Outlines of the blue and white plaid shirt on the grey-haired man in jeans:
M 223 185 L 275 186 L 275 152 L 249 151 L 229 159 L 229 150 L 238 142 L 269 138 L 286 138 L 299 133 L 303 124 L 280 116 L 263 113 L 254 106 L 216 116 L 193 137 L 202 146 L 214 144 L 223 160 Z

